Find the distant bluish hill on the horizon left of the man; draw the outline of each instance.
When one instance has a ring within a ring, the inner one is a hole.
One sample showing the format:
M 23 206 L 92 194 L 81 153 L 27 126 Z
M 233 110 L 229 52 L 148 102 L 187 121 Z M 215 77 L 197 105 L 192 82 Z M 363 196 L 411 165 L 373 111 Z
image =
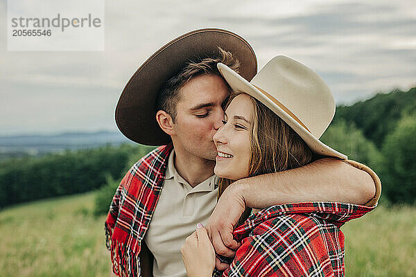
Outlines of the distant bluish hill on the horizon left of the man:
M 53 135 L 0 136 L 0 159 L 132 143 L 120 132 L 64 132 Z

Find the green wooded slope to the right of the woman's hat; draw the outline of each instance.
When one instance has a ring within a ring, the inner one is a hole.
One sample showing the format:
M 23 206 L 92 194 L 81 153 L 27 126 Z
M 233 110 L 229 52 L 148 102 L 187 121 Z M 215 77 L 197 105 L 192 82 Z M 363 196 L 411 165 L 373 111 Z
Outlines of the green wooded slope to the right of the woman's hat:
M 416 87 L 340 106 L 322 141 L 373 170 L 388 202 L 416 200 Z

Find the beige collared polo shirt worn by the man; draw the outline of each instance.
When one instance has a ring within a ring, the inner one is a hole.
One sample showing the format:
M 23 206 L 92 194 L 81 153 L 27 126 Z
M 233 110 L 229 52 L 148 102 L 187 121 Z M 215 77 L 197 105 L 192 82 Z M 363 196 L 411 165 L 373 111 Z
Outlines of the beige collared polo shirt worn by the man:
M 218 188 L 215 175 L 192 188 L 176 171 L 175 150 L 168 158 L 164 186 L 153 213 L 144 242 L 155 256 L 153 276 L 187 276 L 180 247 L 206 224 L 216 206 Z

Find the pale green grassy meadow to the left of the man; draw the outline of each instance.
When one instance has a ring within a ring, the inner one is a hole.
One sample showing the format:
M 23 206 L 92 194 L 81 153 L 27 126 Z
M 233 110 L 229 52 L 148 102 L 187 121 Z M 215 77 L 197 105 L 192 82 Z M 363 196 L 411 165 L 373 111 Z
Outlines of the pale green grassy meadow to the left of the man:
M 94 193 L 47 199 L 0 212 L 0 276 L 108 276 L 105 216 Z

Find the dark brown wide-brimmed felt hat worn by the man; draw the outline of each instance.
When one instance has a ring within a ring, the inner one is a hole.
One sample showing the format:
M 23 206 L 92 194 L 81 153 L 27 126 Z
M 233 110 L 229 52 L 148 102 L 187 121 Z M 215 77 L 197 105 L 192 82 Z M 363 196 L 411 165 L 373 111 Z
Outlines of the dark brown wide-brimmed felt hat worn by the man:
M 245 39 L 227 30 L 193 30 L 168 42 L 132 75 L 116 107 L 115 119 L 120 131 L 128 139 L 145 145 L 169 143 L 170 136 L 156 121 L 157 94 L 187 63 L 198 57 L 218 56 L 218 46 L 239 60 L 243 78 L 250 81 L 256 75 L 256 55 Z

